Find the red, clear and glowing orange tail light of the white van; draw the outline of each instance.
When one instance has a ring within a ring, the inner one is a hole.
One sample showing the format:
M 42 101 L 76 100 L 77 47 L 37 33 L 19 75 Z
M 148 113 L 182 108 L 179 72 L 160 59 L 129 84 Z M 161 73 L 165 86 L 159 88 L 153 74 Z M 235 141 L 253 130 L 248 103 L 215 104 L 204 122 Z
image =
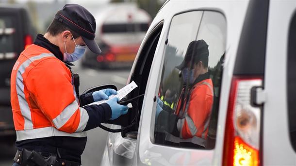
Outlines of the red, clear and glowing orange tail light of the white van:
M 232 79 L 223 166 L 259 166 L 261 109 L 251 105 L 251 88 L 254 86 L 262 86 L 262 79 Z

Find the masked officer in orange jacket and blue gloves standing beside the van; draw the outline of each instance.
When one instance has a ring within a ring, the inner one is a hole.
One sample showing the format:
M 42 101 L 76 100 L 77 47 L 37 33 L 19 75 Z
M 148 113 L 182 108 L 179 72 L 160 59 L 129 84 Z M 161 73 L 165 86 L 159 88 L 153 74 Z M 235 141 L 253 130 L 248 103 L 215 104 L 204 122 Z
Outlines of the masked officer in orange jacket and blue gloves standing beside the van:
M 18 57 L 11 75 L 11 104 L 16 129 L 14 166 L 80 166 L 87 130 L 126 114 L 128 107 L 113 98 L 113 89 L 79 96 L 70 65 L 95 42 L 96 21 L 77 4 L 58 11 L 47 32 Z M 82 107 L 83 106 L 83 107 Z

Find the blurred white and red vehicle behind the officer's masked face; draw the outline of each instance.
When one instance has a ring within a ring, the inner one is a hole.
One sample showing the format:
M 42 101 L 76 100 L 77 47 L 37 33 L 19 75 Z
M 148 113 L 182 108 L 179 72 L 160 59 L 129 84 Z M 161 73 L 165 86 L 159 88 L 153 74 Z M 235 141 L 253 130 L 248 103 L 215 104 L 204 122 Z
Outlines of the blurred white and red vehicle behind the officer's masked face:
M 96 17 L 96 41 L 102 52 L 86 50 L 82 66 L 117 68 L 132 66 L 151 22 L 148 13 L 134 4 L 116 4 Z

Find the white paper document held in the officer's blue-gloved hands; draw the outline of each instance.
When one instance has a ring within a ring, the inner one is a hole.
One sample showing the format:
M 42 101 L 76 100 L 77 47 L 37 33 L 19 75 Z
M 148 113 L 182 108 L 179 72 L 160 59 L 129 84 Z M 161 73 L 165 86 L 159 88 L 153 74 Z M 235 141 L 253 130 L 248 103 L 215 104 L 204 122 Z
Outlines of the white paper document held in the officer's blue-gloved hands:
M 109 96 L 109 99 L 108 100 L 111 100 L 112 98 L 119 98 L 119 100 L 121 100 L 122 98 L 124 98 L 125 96 L 127 96 L 130 92 L 132 92 L 132 90 L 134 88 L 138 87 L 138 85 L 132 81 L 132 83 L 126 85 L 125 87 L 119 89 L 117 91 L 117 95 L 111 95 Z M 88 105 L 93 105 L 93 104 L 102 104 L 102 103 L 105 103 L 107 102 L 108 100 L 101 100 L 101 101 L 96 101 L 96 102 L 93 102 L 93 103 L 90 103 Z

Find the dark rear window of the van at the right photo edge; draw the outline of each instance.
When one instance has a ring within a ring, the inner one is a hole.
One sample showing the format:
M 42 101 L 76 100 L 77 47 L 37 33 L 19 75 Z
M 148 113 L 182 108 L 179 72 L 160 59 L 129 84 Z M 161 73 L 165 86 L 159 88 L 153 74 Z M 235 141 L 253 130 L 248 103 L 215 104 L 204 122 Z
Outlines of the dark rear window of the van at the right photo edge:
M 289 32 L 288 45 L 288 118 L 289 118 L 289 132 L 290 141 L 293 149 L 296 151 L 296 14 L 294 15 Z

